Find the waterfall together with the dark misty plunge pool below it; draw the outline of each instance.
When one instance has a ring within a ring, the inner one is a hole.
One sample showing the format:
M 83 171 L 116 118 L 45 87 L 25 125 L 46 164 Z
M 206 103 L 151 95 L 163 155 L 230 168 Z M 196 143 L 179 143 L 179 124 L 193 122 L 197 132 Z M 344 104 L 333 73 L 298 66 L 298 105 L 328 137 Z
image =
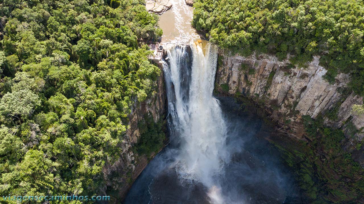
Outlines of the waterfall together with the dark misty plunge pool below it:
M 301 204 L 277 151 L 262 139 L 269 128 L 233 100 L 220 104 L 213 96 L 217 47 L 170 44 L 167 53 L 171 143 L 124 204 Z

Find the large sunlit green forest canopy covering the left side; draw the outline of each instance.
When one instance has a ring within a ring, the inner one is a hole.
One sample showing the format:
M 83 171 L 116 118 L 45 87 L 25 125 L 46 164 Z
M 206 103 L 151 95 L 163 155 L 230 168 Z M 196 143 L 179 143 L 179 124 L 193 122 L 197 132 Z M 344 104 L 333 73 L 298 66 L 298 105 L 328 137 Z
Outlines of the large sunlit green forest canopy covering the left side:
M 104 186 L 132 103 L 155 93 L 157 21 L 143 0 L 1 1 L 0 195 Z

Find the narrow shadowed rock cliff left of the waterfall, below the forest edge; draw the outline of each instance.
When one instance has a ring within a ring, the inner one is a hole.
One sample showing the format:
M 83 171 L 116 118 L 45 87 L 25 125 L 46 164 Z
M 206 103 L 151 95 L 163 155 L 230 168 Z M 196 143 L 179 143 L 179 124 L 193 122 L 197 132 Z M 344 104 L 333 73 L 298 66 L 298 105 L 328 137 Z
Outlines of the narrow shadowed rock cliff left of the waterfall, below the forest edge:
M 166 113 L 166 93 L 164 86 L 163 72 L 158 78 L 157 93 L 143 103 L 135 103 L 129 114 L 129 123 L 124 138 L 124 143 L 120 148 L 120 159 L 112 165 L 104 168 L 104 179 L 107 186 L 103 193 L 111 195 L 110 203 L 121 203 L 132 183 L 138 178 L 139 174 L 147 166 L 152 155 L 138 155 L 133 152 L 132 145 L 137 143 L 141 134 L 139 133 L 138 122 L 143 121 L 146 114 L 153 116 L 154 122 L 165 119 Z

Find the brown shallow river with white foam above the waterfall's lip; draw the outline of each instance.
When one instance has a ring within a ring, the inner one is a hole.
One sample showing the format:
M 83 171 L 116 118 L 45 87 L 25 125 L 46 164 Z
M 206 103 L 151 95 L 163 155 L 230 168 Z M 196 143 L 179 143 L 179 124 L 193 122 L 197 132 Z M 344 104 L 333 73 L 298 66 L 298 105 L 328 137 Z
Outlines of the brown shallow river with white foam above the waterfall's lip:
M 200 38 L 191 26 L 193 8 L 185 0 L 172 0 L 173 7 L 159 17 L 163 30 L 162 43 L 189 44 Z

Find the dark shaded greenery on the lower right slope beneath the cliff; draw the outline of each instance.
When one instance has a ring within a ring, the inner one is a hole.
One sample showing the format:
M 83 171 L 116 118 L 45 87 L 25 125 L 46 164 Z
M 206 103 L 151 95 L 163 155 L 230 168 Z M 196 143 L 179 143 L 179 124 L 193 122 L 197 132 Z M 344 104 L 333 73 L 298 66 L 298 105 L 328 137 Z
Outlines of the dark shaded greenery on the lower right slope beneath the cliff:
M 309 142 L 300 142 L 300 151 L 288 154 L 289 165 L 300 176 L 299 184 L 313 203 L 360 203 L 363 200 L 364 169 L 343 151 L 344 132 L 324 126 L 323 117 L 303 117 Z M 351 126 L 351 127 L 350 127 Z M 355 126 L 347 124 L 355 134 Z M 297 162 L 298 161 L 298 162 Z

